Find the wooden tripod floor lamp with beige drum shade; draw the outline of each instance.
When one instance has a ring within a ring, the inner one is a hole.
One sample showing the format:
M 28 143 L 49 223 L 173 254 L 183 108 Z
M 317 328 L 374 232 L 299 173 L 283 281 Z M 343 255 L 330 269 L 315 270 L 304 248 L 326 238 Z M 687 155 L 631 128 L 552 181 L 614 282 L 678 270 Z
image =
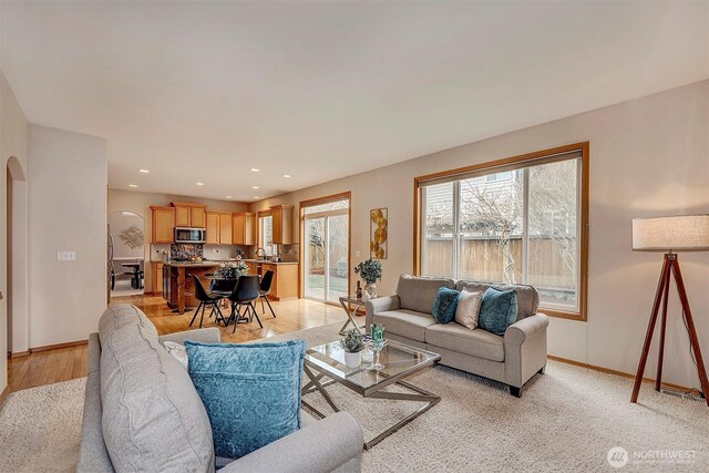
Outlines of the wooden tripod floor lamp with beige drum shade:
M 657 323 L 657 316 L 662 305 L 660 319 L 660 347 L 657 360 L 657 377 L 655 378 L 655 390 L 660 390 L 662 380 L 662 357 L 665 354 L 665 330 L 667 328 L 667 299 L 669 296 L 670 275 L 675 277 L 677 282 L 677 291 L 682 306 L 682 317 L 687 332 L 689 333 L 689 343 L 697 362 L 697 371 L 699 372 L 699 382 L 703 392 L 707 405 L 709 405 L 709 380 L 707 380 L 707 370 L 705 361 L 701 358 L 699 340 L 697 339 L 697 330 L 695 321 L 689 309 L 689 299 L 685 290 L 685 281 L 679 270 L 679 259 L 675 251 L 701 251 L 709 250 L 709 215 L 678 215 L 674 217 L 656 217 L 656 218 L 634 218 L 633 219 L 633 249 L 645 251 L 665 251 L 665 263 L 660 273 L 660 280 L 657 285 L 655 294 L 655 302 L 650 312 L 650 322 L 647 326 L 645 335 L 645 343 L 643 345 L 643 353 L 638 363 L 638 372 L 635 377 L 633 385 L 633 395 L 630 402 L 637 402 L 640 384 L 643 384 L 643 374 L 645 373 L 645 364 L 650 351 L 653 342 L 653 332 Z

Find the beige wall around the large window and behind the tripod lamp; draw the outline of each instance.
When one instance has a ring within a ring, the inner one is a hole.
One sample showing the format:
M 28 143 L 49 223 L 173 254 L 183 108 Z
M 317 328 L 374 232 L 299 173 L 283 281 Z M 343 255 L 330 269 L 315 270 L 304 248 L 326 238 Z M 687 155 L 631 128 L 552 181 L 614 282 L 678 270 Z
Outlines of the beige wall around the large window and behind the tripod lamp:
M 369 254 L 369 210 L 388 207 L 389 259 L 382 261 L 384 276 L 378 287 L 380 294 L 391 294 L 399 274 L 413 268 L 415 176 L 589 141 L 588 321 L 553 319 L 548 350 L 551 354 L 634 373 L 661 255 L 630 249 L 630 219 L 709 213 L 708 130 L 709 81 L 702 81 L 261 200 L 250 209 L 298 205 L 304 199 L 351 191 L 351 261 L 356 265 Z M 354 256 L 357 250 L 360 257 Z M 709 356 L 709 253 L 682 254 L 680 260 L 701 348 Z M 665 381 L 698 385 L 688 350 L 674 296 Z M 656 354 L 650 357 L 646 373 L 651 377 Z

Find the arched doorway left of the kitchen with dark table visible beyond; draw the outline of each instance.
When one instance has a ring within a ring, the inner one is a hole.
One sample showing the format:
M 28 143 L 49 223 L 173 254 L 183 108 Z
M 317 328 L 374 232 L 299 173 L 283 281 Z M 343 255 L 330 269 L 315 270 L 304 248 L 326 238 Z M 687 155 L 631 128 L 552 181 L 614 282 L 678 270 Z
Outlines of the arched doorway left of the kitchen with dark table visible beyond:
M 145 290 L 145 220 L 129 210 L 109 214 L 109 287 L 111 297 Z

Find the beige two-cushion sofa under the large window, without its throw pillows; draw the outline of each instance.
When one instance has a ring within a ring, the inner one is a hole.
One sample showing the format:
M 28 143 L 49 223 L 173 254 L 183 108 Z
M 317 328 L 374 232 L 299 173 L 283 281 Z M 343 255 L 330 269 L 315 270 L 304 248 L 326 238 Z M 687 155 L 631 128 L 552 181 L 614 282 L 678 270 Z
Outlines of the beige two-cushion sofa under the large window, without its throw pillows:
M 517 292 L 517 321 L 504 337 L 482 329 L 470 330 L 454 321 L 438 323 L 431 315 L 441 287 L 484 292 L 491 286 Z M 503 382 L 518 398 L 524 383 L 537 372 L 543 373 L 546 367 L 549 321 L 544 313 L 537 313 L 538 305 L 538 292 L 532 286 L 402 275 L 394 296 L 367 302 L 367 329 L 371 323 L 382 323 L 387 338 L 440 353 L 441 364 Z

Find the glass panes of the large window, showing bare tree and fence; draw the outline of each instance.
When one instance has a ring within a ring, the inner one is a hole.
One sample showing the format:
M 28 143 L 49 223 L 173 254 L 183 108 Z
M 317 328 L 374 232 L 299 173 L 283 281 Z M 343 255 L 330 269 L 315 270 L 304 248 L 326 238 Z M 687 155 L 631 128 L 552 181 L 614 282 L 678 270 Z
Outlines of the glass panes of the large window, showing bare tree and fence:
M 532 284 L 542 301 L 575 306 L 578 165 L 572 158 L 427 186 L 423 274 Z

